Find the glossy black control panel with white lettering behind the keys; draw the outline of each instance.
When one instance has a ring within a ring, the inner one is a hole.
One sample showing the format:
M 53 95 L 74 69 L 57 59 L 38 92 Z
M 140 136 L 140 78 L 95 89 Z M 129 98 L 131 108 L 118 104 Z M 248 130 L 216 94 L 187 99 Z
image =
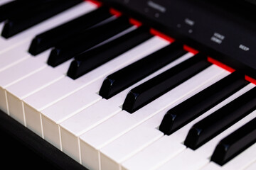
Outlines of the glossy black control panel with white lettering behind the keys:
M 227 3 L 199 0 L 104 2 L 256 78 L 256 21 L 253 18 L 256 8 L 253 4 L 233 1 L 230 8 L 226 8 Z

